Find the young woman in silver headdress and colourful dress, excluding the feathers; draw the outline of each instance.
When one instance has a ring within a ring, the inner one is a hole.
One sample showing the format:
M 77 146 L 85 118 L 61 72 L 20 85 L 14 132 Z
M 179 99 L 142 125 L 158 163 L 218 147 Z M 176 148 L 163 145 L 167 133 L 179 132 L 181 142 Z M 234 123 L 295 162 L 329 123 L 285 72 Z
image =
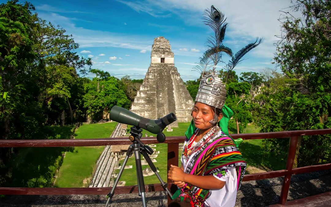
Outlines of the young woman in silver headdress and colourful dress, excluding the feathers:
M 193 120 L 185 133 L 182 165 L 171 166 L 168 171 L 168 178 L 179 188 L 173 196 L 179 202 L 191 206 L 235 205 L 246 162 L 237 141 L 228 135 L 232 111 L 224 106 L 225 94 L 220 78 L 206 75 L 201 79 Z M 226 115 L 223 122 L 222 112 Z

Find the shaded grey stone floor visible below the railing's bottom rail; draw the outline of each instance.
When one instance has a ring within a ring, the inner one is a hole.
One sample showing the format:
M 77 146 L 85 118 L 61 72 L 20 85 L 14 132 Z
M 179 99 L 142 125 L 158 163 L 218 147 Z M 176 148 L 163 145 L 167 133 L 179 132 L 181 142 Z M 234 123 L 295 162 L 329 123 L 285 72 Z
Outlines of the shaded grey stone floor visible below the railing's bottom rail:
M 255 207 L 276 204 L 279 201 L 283 178 L 243 182 L 237 195 L 236 207 Z M 289 200 L 299 199 L 331 191 L 331 170 L 294 175 L 291 180 Z M 146 193 L 147 206 L 166 206 L 165 192 Z M 119 194 L 113 198 L 111 207 L 138 207 L 141 198 L 137 194 Z M 102 195 L 39 196 L 12 195 L 0 200 L 1 207 L 92 207 L 104 206 Z

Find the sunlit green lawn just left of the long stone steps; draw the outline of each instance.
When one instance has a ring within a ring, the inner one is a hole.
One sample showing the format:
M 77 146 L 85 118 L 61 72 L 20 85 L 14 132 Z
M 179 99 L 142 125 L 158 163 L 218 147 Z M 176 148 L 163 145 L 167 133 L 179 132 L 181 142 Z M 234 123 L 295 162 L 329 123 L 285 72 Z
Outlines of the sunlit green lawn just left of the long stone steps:
M 75 131 L 76 139 L 92 139 L 109 137 L 117 122 L 82 125 Z M 87 187 L 93 176 L 95 164 L 104 146 L 74 147 L 66 153 L 56 187 Z

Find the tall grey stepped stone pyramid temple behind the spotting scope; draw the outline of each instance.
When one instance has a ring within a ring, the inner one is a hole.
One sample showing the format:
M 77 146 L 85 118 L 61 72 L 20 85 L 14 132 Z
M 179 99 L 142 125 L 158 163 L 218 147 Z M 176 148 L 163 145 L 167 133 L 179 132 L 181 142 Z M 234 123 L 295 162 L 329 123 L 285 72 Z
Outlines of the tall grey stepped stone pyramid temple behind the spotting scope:
M 151 64 L 143 84 L 137 92 L 131 111 L 148 119 L 157 119 L 173 112 L 177 122 L 190 122 L 193 99 L 174 65 L 174 55 L 169 40 L 154 39 Z

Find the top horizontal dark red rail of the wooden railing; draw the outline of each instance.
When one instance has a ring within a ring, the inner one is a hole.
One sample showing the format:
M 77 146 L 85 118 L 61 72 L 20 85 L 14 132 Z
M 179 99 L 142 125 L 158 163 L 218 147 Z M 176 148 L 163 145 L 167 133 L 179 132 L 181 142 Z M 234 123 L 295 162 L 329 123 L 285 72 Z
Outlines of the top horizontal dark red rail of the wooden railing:
M 298 131 L 279 131 L 279 132 L 264 132 L 264 133 L 249 133 L 249 134 L 231 134 L 231 137 L 243 139 L 271 139 L 284 138 L 301 135 L 323 135 L 331 134 L 331 129 L 314 129 L 314 130 L 298 130 Z M 145 144 L 157 144 L 156 137 L 142 137 L 141 141 Z M 185 136 L 170 136 L 166 138 L 164 143 L 174 144 L 183 143 Z M 120 137 L 99 138 L 99 139 L 0 139 L 0 147 L 74 147 L 74 146 L 104 146 L 104 145 L 122 145 L 131 144 L 128 139 Z

